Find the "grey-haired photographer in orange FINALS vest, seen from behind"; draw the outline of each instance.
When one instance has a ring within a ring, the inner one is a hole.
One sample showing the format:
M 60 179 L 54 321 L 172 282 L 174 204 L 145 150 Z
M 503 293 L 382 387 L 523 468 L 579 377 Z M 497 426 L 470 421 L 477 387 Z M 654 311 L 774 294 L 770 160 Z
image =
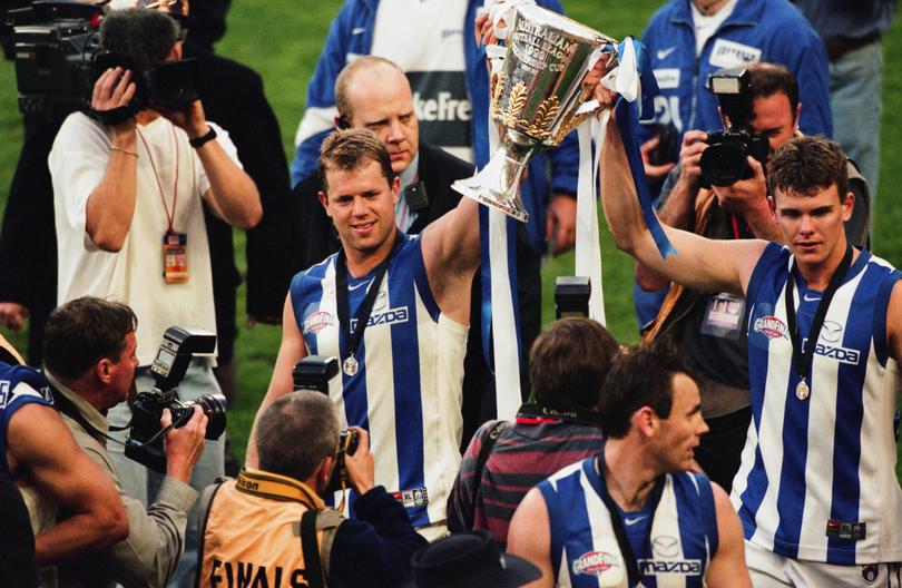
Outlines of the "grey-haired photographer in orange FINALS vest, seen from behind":
M 404 507 L 374 487 L 369 435 L 353 431 L 356 451 L 336 454 L 339 412 L 320 392 L 293 392 L 264 409 L 256 427 L 261 469 L 244 470 L 202 498 L 196 586 L 231 585 L 241 574 L 255 586 L 283 586 L 283 578 L 292 586 L 400 586 L 425 539 Z M 342 519 L 318 496 L 340 460 L 357 492 L 359 520 Z

